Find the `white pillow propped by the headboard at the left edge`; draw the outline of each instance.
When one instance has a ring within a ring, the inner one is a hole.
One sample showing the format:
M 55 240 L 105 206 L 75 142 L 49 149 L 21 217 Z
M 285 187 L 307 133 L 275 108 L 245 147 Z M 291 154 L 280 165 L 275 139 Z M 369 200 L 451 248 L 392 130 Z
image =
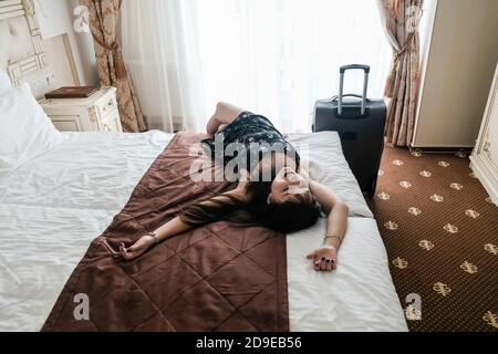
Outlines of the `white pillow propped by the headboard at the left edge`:
M 63 140 L 27 83 L 0 94 L 0 177 Z

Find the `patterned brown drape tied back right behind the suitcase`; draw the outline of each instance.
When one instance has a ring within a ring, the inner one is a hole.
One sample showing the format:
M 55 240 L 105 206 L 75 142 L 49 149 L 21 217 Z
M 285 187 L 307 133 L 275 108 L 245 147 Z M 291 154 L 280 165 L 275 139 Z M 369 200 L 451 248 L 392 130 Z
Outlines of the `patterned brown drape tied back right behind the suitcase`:
M 424 0 L 376 0 L 381 20 L 393 48 L 385 85 L 388 100 L 385 135 L 395 146 L 411 145 L 419 86 L 418 24 Z

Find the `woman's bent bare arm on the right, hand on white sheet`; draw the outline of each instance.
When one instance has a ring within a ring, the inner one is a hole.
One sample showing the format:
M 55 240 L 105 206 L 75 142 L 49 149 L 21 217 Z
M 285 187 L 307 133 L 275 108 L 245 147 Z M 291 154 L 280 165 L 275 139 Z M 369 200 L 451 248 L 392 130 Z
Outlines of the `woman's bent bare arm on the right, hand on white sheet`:
M 310 179 L 310 190 L 329 214 L 326 233 L 321 248 L 307 257 L 314 262 L 315 270 L 333 270 L 338 266 L 338 251 L 345 236 L 349 208 L 330 188 Z

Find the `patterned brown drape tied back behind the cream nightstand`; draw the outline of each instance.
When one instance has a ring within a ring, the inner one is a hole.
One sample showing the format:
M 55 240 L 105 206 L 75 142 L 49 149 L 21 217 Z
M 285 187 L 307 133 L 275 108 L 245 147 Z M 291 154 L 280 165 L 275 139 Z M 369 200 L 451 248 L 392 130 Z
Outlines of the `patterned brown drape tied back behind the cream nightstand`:
M 84 4 L 90 10 L 90 29 L 94 39 L 101 85 L 117 88 L 117 107 L 123 129 L 146 131 L 138 98 L 116 39 L 121 0 L 84 0 Z

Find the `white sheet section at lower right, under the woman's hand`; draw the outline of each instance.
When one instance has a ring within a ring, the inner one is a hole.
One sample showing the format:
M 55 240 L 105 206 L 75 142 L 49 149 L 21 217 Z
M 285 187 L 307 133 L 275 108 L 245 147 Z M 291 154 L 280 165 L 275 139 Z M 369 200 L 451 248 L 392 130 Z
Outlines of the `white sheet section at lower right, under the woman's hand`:
M 349 218 L 338 269 L 317 272 L 305 259 L 323 241 L 326 219 L 287 237 L 291 331 L 405 332 L 403 310 L 374 219 Z

